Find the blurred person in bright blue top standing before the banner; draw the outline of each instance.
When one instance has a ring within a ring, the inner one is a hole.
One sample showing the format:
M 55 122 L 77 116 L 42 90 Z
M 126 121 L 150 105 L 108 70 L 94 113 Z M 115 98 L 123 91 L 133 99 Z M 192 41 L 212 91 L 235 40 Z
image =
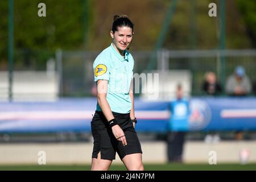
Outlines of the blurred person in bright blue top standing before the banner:
M 168 162 L 183 162 L 183 146 L 188 131 L 189 102 L 184 98 L 181 84 L 176 88 L 176 100 L 170 103 L 171 118 L 168 122 Z

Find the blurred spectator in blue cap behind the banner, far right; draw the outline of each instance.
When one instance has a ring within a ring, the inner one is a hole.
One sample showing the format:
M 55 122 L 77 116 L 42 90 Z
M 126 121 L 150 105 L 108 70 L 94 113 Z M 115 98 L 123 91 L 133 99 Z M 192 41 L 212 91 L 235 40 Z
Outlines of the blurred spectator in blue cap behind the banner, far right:
M 230 96 L 246 96 L 251 92 L 251 82 L 242 66 L 236 67 L 226 81 L 226 93 Z

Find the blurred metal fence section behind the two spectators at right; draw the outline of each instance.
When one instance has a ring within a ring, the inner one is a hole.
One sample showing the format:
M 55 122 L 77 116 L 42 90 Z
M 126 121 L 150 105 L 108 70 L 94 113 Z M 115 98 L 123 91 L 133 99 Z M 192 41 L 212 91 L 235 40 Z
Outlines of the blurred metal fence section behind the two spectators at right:
M 158 53 L 159 69 L 189 69 L 192 72 L 192 95 L 202 94 L 201 84 L 206 72 L 216 73 L 225 94 L 225 82 L 237 65 L 245 68 L 251 84 L 256 81 L 256 50 L 189 50 L 161 51 Z M 221 57 L 224 63 L 221 63 Z

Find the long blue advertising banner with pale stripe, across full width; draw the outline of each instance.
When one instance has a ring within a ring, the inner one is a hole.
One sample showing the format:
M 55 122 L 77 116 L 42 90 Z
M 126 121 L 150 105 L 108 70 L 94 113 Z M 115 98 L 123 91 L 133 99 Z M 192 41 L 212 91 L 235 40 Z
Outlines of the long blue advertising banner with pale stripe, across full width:
M 90 132 L 96 98 L 57 102 L 0 102 L 0 133 Z M 135 100 L 138 132 L 256 130 L 256 97 L 193 97 L 184 104 Z M 175 111 L 176 117 L 175 116 Z M 175 120 L 176 118 L 176 120 Z M 179 120 L 179 121 L 177 121 Z

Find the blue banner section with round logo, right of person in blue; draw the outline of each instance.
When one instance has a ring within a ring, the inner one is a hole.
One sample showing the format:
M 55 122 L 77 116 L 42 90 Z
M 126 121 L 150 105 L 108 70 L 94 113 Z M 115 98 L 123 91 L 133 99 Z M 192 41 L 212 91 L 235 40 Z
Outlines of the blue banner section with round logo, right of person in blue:
M 255 97 L 193 98 L 191 110 L 189 130 L 256 130 Z

